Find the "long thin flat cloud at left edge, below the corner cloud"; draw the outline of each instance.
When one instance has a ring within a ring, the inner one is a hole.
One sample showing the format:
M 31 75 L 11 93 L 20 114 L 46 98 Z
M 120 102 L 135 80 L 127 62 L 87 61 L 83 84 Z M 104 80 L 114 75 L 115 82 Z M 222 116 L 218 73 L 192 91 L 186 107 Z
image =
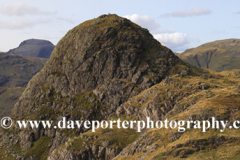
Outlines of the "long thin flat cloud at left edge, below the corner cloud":
M 17 19 L 14 21 L 0 21 L 0 28 L 2 29 L 22 29 L 26 27 L 33 27 L 37 24 L 48 23 L 50 20 L 30 20 Z

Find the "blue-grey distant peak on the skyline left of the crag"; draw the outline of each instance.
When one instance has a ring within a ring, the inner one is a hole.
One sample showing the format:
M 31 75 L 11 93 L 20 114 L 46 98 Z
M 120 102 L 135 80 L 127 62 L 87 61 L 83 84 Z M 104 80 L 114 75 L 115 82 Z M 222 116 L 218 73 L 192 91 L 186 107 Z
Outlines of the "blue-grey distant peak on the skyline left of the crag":
M 46 40 L 29 39 L 23 41 L 19 47 L 9 50 L 7 53 L 12 53 L 20 56 L 49 58 L 54 45 Z

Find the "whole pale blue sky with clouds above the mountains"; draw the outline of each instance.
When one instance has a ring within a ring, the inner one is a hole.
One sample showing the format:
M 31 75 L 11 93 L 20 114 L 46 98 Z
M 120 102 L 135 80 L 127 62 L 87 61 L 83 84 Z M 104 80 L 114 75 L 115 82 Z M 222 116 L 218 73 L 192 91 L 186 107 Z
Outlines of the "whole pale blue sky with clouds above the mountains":
M 0 51 L 31 38 L 56 45 L 76 25 L 115 13 L 181 52 L 214 40 L 240 38 L 239 6 L 238 0 L 1 0 Z

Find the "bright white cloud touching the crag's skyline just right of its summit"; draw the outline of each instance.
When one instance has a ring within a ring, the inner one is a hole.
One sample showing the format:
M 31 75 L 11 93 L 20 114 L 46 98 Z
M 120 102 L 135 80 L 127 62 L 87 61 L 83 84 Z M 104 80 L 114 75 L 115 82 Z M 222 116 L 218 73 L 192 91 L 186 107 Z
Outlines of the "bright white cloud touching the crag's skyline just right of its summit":
M 126 15 L 124 17 L 133 21 L 134 23 L 137 23 L 141 27 L 147 28 L 153 34 L 159 31 L 160 25 L 153 18 L 148 17 L 147 15 L 139 16 L 137 14 L 133 14 L 133 15 Z

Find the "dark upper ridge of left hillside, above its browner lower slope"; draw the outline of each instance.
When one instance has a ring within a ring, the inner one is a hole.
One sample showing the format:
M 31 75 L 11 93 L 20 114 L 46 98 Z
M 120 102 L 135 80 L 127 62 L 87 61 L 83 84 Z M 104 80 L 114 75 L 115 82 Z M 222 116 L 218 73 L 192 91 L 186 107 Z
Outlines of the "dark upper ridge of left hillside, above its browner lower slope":
M 26 87 L 47 59 L 0 53 L 0 87 Z

